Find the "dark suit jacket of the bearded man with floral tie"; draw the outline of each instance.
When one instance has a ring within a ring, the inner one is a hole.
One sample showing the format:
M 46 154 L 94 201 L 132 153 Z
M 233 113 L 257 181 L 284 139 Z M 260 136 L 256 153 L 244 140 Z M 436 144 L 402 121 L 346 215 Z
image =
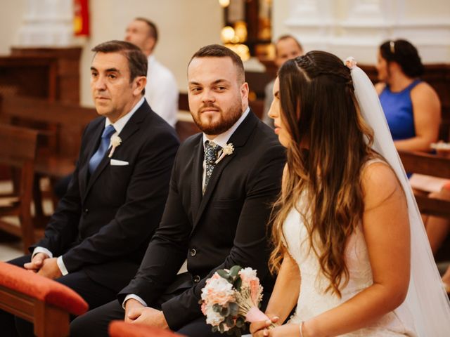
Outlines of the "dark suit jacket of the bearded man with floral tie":
M 177 295 L 162 303 L 162 311 L 175 331 L 202 315 L 201 289 L 219 268 L 252 267 L 266 290 L 273 287 L 266 224 L 281 188 L 285 151 L 251 111 L 229 143 L 234 152 L 214 168 L 203 196 L 203 135 L 181 145 L 160 227 L 136 277 L 118 296 L 122 303 L 134 293 L 152 306 L 171 289 Z M 187 286 L 176 277 L 186 257 Z M 183 286 L 184 292 L 176 291 Z

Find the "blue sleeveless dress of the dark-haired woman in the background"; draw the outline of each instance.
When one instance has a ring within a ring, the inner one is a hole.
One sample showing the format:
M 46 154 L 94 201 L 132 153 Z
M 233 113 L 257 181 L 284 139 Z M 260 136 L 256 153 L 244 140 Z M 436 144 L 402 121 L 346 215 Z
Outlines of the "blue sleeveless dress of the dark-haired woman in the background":
M 403 140 L 416 136 L 411 90 L 420 82 L 420 79 L 416 79 L 398 93 L 392 92 L 390 87 L 386 85 L 383 92 L 380 93 L 381 107 L 383 107 L 385 112 L 387 124 L 394 140 Z

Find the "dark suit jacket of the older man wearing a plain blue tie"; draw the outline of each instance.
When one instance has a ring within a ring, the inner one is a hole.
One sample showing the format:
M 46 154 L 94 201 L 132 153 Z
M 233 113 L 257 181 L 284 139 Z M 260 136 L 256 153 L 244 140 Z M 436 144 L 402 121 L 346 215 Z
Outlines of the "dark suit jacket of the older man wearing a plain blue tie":
M 84 270 L 91 279 L 120 291 L 136 274 L 150 237 L 160 223 L 179 140 L 174 128 L 146 101 L 120 133 L 122 143 L 89 174 L 105 117 L 86 127 L 68 192 L 45 230 L 30 247 L 63 256 L 68 272 Z M 127 161 L 124 166 L 112 161 Z

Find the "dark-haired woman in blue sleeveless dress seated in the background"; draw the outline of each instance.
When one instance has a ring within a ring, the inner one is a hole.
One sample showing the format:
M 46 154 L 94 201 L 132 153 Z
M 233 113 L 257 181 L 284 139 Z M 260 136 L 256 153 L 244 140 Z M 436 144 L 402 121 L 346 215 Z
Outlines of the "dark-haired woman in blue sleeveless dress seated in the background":
M 409 41 L 386 41 L 378 51 L 375 85 L 397 150 L 430 152 L 437 141 L 441 103 L 436 91 L 420 80 L 424 72 Z

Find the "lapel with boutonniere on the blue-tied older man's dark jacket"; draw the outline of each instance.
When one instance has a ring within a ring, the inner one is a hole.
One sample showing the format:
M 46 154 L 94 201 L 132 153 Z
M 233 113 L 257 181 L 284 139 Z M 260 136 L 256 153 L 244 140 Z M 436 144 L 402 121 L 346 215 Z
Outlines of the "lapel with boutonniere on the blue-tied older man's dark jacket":
M 141 107 L 139 107 L 139 109 L 136 110 L 136 112 L 134 112 L 131 119 L 129 119 L 129 121 L 127 122 L 127 124 L 125 124 L 124 128 L 122 129 L 122 131 L 119 134 L 119 137 L 122 139 L 122 144 L 126 144 L 127 139 L 133 133 L 135 133 L 136 131 L 139 130 L 139 124 L 141 123 L 141 121 L 143 119 L 145 119 L 146 112 L 148 112 L 148 110 L 150 110 L 150 107 L 148 106 L 148 103 L 146 103 L 146 101 L 144 101 L 144 103 L 141 105 Z M 101 131 L 103 132 L 103 128 L 101 129 Z M 122 148 L 123 148 L 123 145 L 120 145 L 120 146 L 122 146 Z M 120 152 L 120 150 L 121 150 L 120 146 L 117 147 L 117 150 L 115 150 L 114 154 L 117 154 L 117 152 Z M 95 149 L 97 147 L 98 147 L 98 145 L 95 147 Z M 94 152 L 91 152 L 89 159 L 92 157 L 93 154 L 94 154 Z M 108 164 L 110 162 L 110 158 L 108 157 L 109 154 L 110 154 L 110 149 L 108 149 L 108 151 L 106 151 L 105 157 L 103 157 L 100 164 L 98 164 L 96 171 L 94 171 L 91 175 L 91 178 L 89 178 L 89 182 L 87 183 L 87 187 L 86 187 L 86 192 L 84 192 L 84 194 L 83 194 L 83 199 L 89 193 L 89 190 L 91 190 L 92 185 L 94 185 L 94 183 L 96 182 L 96 180 L 98 179 L 98 177 L 100 176 L 102 171 L 106 168 L 106 166 L 108 166 Z M 89 167 L 89 164 L 86 166 Z

